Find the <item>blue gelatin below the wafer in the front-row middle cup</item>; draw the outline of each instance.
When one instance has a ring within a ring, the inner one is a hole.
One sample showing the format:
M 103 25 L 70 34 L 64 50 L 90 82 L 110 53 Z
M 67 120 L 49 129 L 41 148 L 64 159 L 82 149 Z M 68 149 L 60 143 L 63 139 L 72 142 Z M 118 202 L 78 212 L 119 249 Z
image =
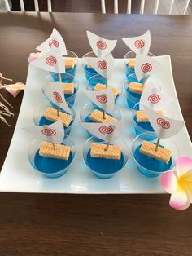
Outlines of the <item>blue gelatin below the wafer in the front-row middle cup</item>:
M 121 153 L 120 160 L 91 157 L 90 150 L 87 153 L 85 162 L 98 178 L 111 178 L 124 166 L 124 155 Z

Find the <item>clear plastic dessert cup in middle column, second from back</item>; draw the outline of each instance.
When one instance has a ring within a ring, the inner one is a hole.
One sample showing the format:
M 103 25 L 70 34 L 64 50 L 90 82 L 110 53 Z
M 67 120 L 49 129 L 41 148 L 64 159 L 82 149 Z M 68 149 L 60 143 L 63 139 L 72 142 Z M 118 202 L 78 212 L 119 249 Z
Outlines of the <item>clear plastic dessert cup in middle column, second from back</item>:
M 94 90 L 94 86 L 96 86 L 98 83 L 106 85 L 106 79 L 99 74 L 94 75 L 94 77 L 90 77 L 88 81 L 88 85 L 86 86 L 86 90 Z M 110 86 L 111 82 L 109 81 L 108 84 Z M 116 95 L 116 98 L 115 98 L 115 104 L 116 104 L 116 101 L 119 99 L 120 95 L 122 94 L 123 86 L 120 83 L 118 83 L 117 85 L 111 85 L 111 86 L 119 90 L 119 93 L 118 95 Z M 94 104 L 94 107 L 96 107 L 95 104 Z

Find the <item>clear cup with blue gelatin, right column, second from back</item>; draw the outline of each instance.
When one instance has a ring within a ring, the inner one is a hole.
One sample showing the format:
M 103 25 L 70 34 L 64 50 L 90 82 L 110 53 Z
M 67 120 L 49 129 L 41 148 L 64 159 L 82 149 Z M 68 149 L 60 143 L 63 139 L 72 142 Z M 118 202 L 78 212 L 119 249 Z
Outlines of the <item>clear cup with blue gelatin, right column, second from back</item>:
M 137 94 L 133 91 L 129 91 L 130 82 L 138 82 L 135 74 L 132 74 L 129 77 L 127 77 L 127 81 L 124 82 L 124 90 L 126 92 L 127 104 L 129 108 L 133 108 L 134 105 L 140 101 L 142 95 Z M 139 83 L 142 83 L 142 82 L 143 80 L 141 80 Z

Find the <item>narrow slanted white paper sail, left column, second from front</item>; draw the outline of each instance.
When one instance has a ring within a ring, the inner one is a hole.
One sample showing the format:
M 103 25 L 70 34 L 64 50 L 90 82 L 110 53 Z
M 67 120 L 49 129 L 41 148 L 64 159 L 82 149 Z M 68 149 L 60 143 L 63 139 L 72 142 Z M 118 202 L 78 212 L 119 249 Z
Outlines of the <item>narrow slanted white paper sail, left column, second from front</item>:
M 72 114 L 72 110 L 68 107 L 63 93 L 63 86 L 61 82 L 48 82 L 46 86 L 43 86 L 45 95 L 56 104 L 59 108 L 62 108 L 67 113 Z

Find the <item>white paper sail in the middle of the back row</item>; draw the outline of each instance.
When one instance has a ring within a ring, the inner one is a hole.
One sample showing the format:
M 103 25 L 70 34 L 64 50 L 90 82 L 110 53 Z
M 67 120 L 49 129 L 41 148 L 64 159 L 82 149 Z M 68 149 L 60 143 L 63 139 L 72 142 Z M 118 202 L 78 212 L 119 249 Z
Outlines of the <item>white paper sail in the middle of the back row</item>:
M 113 51 L 116 46 L 117 40 L 108 40 L 105 38 L 101 38 L 98 35 L 87 31 L 87 38 L 89 40 L 89 44 L 93 49 L 95 55 L 99 58 L 104 58 L 108 54 Z

